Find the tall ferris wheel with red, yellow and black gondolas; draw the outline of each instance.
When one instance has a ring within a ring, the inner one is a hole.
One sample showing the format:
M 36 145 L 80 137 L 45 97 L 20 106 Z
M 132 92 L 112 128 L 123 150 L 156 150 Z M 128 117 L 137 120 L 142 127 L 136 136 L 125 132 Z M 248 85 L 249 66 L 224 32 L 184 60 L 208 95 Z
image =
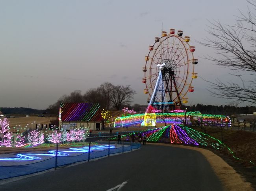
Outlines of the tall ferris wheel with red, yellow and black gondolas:
M 180 108 L 188 103 L 187 93 L 194 91 L 191 84 L 197 78 L 194 69 L 198 59 L 193 56 L 195 46 L 188 44 L 190 37 L 183 38 L 183 31 L 174 33 L 175 29 L 170 29 L 169 34 L 162 31 L 161 37 L 155 37 L 155 43 L 149 46 L 142 82 L 146 85 L 144 93 L 149 95 L 149 102 L 161 71 L 165 100 Z

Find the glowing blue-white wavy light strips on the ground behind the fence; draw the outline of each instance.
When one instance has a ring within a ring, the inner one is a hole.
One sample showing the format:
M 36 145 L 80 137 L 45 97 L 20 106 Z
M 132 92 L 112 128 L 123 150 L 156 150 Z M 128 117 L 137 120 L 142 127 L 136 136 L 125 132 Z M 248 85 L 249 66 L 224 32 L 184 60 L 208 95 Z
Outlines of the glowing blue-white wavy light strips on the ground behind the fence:
M 110 149 L 115 149 L 114 145 L 109 146 Z M 96 151 L 96 150 L 106 150 L 108 149 L 108 145 L 96 145 L 91 146 L 90 152 Z M 85 146 L 82 148 L 70 148 L 70 150 L 59 150 L 57 155 L 58 156 L 69 156 L 68 153 L 87 153 L 89 151 L 89 147 Z M 10 158 L 0 158 L 4 161 L 27 161 L 27 160 L 40 160 L 41 158 L 38 156 L 56 156 L 56 150 L 50 150 L 48 153 L 23 153 L 23 154 L 17 154 L 17 157 L 10 157 Z

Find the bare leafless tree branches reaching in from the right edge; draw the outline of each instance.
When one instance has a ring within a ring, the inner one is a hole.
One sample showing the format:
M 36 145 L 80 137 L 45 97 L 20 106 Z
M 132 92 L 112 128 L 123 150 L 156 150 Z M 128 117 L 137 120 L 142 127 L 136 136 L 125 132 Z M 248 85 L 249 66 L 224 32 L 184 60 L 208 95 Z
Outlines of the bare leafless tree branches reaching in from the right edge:
M 256 1 L 247 0 L 256 11 Z M 256 15 L 248 9 L 244 14 L 240 11 L 237 23 L 224 25 L 219 21 L 210 22 L 208 34 L 200 44 L 217 50 L 217 56 L 205 56 L 222 67 L 229 67 L 238 82 L 222 82 L 217 79 L 210 83 L 213 96 L 226 98 L 233 102 L 250 102 L 256 104 Z

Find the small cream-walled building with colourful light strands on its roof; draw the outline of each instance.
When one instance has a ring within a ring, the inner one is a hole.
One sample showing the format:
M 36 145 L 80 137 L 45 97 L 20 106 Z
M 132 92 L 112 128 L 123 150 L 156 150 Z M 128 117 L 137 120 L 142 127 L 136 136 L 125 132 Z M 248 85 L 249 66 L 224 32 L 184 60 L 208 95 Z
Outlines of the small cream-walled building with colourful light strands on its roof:
M 100 104 L 61 103 L 59 126 L 62 129 L 89 127 L 92 130 L 101 130 L 104 121 L 101 116 Z

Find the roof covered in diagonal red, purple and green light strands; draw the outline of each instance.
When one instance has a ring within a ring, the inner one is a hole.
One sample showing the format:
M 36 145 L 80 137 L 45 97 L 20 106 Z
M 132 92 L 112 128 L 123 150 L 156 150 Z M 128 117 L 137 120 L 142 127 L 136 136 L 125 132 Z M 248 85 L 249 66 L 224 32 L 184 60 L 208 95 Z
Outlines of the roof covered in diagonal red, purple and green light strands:
M 61 121 L 102 121 L 100 104 L 61 103 Z

